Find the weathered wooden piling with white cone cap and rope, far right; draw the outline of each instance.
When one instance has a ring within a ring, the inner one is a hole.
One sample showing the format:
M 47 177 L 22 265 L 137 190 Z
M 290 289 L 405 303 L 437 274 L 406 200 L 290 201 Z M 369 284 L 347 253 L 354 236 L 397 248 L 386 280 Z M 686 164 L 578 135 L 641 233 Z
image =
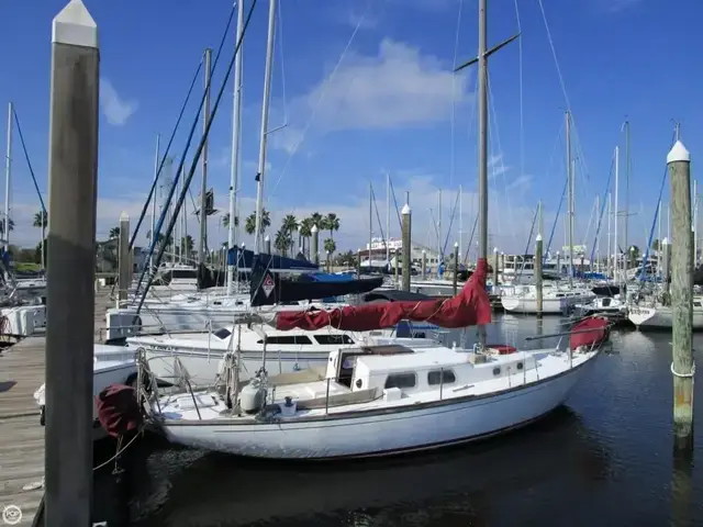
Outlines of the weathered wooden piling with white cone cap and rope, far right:
M 693 239 L 691 236 L 691 154 L 677 141 L 667 156 L 671 184 L 671 311 L 673 315 L 671 373 L 673 375 L 674 448 L 693 444 Z

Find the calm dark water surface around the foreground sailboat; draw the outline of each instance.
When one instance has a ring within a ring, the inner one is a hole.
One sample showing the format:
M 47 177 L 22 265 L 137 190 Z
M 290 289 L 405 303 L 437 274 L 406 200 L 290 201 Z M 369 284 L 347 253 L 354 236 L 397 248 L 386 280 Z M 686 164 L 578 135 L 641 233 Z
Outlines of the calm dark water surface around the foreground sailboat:
M 505 315 L 491 339 L 521 344 L 559 324 Z M 670 341 L 666 333 L 614 332 L 612 350 L 565 407 L 498 439 L 312 466 L 145 445 L 126 483 L 98 476 L 97 501 L 122 504 L 111 526 L 701 526 L 703 470 L 672 459 Z M 701 345 L 703 335 L 694 338 Z M 701 434 L 696 445 L 700 463 Z

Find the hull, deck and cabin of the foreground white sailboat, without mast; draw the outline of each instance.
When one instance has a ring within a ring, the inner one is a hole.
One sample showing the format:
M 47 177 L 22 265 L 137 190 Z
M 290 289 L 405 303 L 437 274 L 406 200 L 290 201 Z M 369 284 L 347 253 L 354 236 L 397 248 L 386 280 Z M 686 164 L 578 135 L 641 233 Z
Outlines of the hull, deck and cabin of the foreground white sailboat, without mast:
M 239 456 L 330 459 L 434 449 L 524 426 L 562 404 L 598 357 L 601 337 L 566 350 L 341 349 L 325 369 L 253 379 L 238 408 L 227 395 L 233 392 L 210 391 L 164 395 L 150 411 L 169 440 Z

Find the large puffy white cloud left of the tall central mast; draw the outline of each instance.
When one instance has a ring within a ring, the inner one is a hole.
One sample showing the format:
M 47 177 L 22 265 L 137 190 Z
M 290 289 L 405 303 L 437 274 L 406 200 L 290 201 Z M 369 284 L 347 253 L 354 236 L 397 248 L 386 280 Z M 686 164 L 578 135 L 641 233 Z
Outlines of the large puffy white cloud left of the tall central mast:
M 419 48 L 384 38 L 373 56 L 347 54 L 336 70 L 289 108 L 291 125 L 272 146 L 295 152 L 301 123 L 323 130 L 397 130 L 446 122 L 469 97 L 467 74 Z M 311 121 L 312 120 L 312 121 Z

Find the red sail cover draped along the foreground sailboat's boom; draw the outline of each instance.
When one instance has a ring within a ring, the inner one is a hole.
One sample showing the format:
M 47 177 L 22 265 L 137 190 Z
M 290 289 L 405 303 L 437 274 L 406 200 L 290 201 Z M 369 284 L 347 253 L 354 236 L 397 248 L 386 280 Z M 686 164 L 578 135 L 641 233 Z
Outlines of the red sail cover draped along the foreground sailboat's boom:
M 451 299 L 350 305 L 332 311 L 281 311 L 276 317 L 276 328 L 312 330 L 333 326 L 347 332 L 370 332 L 394 327 L 401 321 L 428 322 L 445 328 L 490 324 L 487 270 L 486 259 L 480 259 L 471 278 Z

